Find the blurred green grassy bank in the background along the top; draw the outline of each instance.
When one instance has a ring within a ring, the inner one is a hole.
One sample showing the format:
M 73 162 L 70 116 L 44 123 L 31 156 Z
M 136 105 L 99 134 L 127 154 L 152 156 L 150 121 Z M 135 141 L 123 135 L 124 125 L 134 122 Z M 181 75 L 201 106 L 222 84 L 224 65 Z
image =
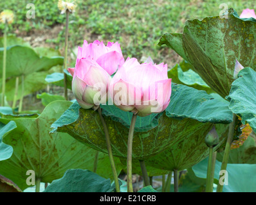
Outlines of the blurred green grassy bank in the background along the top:
M 31 31 L 51 29 L 64 24 L 65 15 L 60 15 L 55 1 L 30 1 L 35 4 L 35 19 L 26 19 L 26 1 L 4 0 L 0 8 L 11 9 L 15 13 L 15 22 L 11 31 L 19 29 L 20 33 L 29 35 Z M 164 61 L 172 67 L 179 57 L 166 47 L 159 47 L 158 40 L 166 32 L 181 32 L 185 20 L 219 15 L 221 3 L 233 7 L 237 13 L 245 8 L 255 8 L 255 1 L 168 1 L 168 0 L 77 0 L 77 10 L 70 17 L 69 48 L 82 45 L 84 39 L 118 41 L 123 55 L 133 56 L 139 60 L 142 56 L 160 63 Z M 3 24 L 0 25 L 3 29 Z M 57 49 L 64 45 L 64 32 L 46 40 Z M 73 62 L 69 62 L 73 64 Z M 71 65 L 72 66 L 72 65 Z

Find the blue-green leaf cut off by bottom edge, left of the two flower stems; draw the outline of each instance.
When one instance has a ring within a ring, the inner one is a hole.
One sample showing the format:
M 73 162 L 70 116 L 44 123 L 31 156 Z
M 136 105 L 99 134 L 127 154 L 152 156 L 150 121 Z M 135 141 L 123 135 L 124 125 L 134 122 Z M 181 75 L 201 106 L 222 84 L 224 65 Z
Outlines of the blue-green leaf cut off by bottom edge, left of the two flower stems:
M 64 176 L 53 181 L 44 192 L 113 192 L 109 179 L 82 169 L 67 170 Z

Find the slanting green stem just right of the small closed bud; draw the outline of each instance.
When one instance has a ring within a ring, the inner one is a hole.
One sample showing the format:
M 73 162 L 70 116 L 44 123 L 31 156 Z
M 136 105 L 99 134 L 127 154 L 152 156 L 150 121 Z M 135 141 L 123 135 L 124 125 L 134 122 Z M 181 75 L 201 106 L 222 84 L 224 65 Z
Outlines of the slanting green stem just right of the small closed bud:
M 228 130 L 228 139 L 226 140 L 226 146 L 224 149 L 224 155 L 223 155 L 223 161 L 221 163 L 221 170 L 226 170 L 226 167 L 228 165 L 228 156 L 230 154 L 230 147 L 233 141 L 233 134 L 235 132 L 235 123 L 237 121 L 237 115 L 233 113 L 233 121 L 230 123 L 230 127 Z M 219 176 L 219 180 L 221 179 L 221 176 Z M 222 192 L 223 191 L 223 184 L 218 183 L 217 185 L 217 191 L 216 192 Z

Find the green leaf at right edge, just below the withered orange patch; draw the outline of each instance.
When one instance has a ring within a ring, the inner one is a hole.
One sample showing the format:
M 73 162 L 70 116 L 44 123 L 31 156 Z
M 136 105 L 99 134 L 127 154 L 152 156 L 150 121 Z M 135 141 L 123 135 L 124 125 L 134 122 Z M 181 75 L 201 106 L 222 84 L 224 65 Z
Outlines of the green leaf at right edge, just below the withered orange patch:
M 224 152 L 217 153 L 217 160 L 222 161 Z M 248 136 L 245 142 L 236 149 L 230 150 L 228 163 L 256 164 L 256 139 Z

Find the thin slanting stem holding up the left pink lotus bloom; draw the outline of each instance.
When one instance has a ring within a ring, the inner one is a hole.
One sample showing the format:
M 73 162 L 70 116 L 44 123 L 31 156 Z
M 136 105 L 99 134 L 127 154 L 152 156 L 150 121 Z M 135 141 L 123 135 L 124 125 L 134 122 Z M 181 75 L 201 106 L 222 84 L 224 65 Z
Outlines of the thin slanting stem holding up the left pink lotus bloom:
M 110 164 L 111 164 L 111 168 L 112 168 L 112 172 L 113 172 L 114 184 L 116 186 L 116 192 L 120 192 L 120 187 L 119 187 L 119 182 L 118 182 L 118 175 L 116 173 L 116 167 L 114 165 L 114 157 L 113 157 L 111 142 L 110 142 L 110 138 L 109 138 L 109 131 L 107 129 L 107 124 L 105 123 L 105 119 L 102 116 L 102 109 L 100 107 L 98 107 L 98 114 L 100 115 L 100 120 L 102 121 L 102 125 L 104 127 L 105 141 L 107 143 L 107 151 L 109 153 L 109 160 L 110 160 Z

